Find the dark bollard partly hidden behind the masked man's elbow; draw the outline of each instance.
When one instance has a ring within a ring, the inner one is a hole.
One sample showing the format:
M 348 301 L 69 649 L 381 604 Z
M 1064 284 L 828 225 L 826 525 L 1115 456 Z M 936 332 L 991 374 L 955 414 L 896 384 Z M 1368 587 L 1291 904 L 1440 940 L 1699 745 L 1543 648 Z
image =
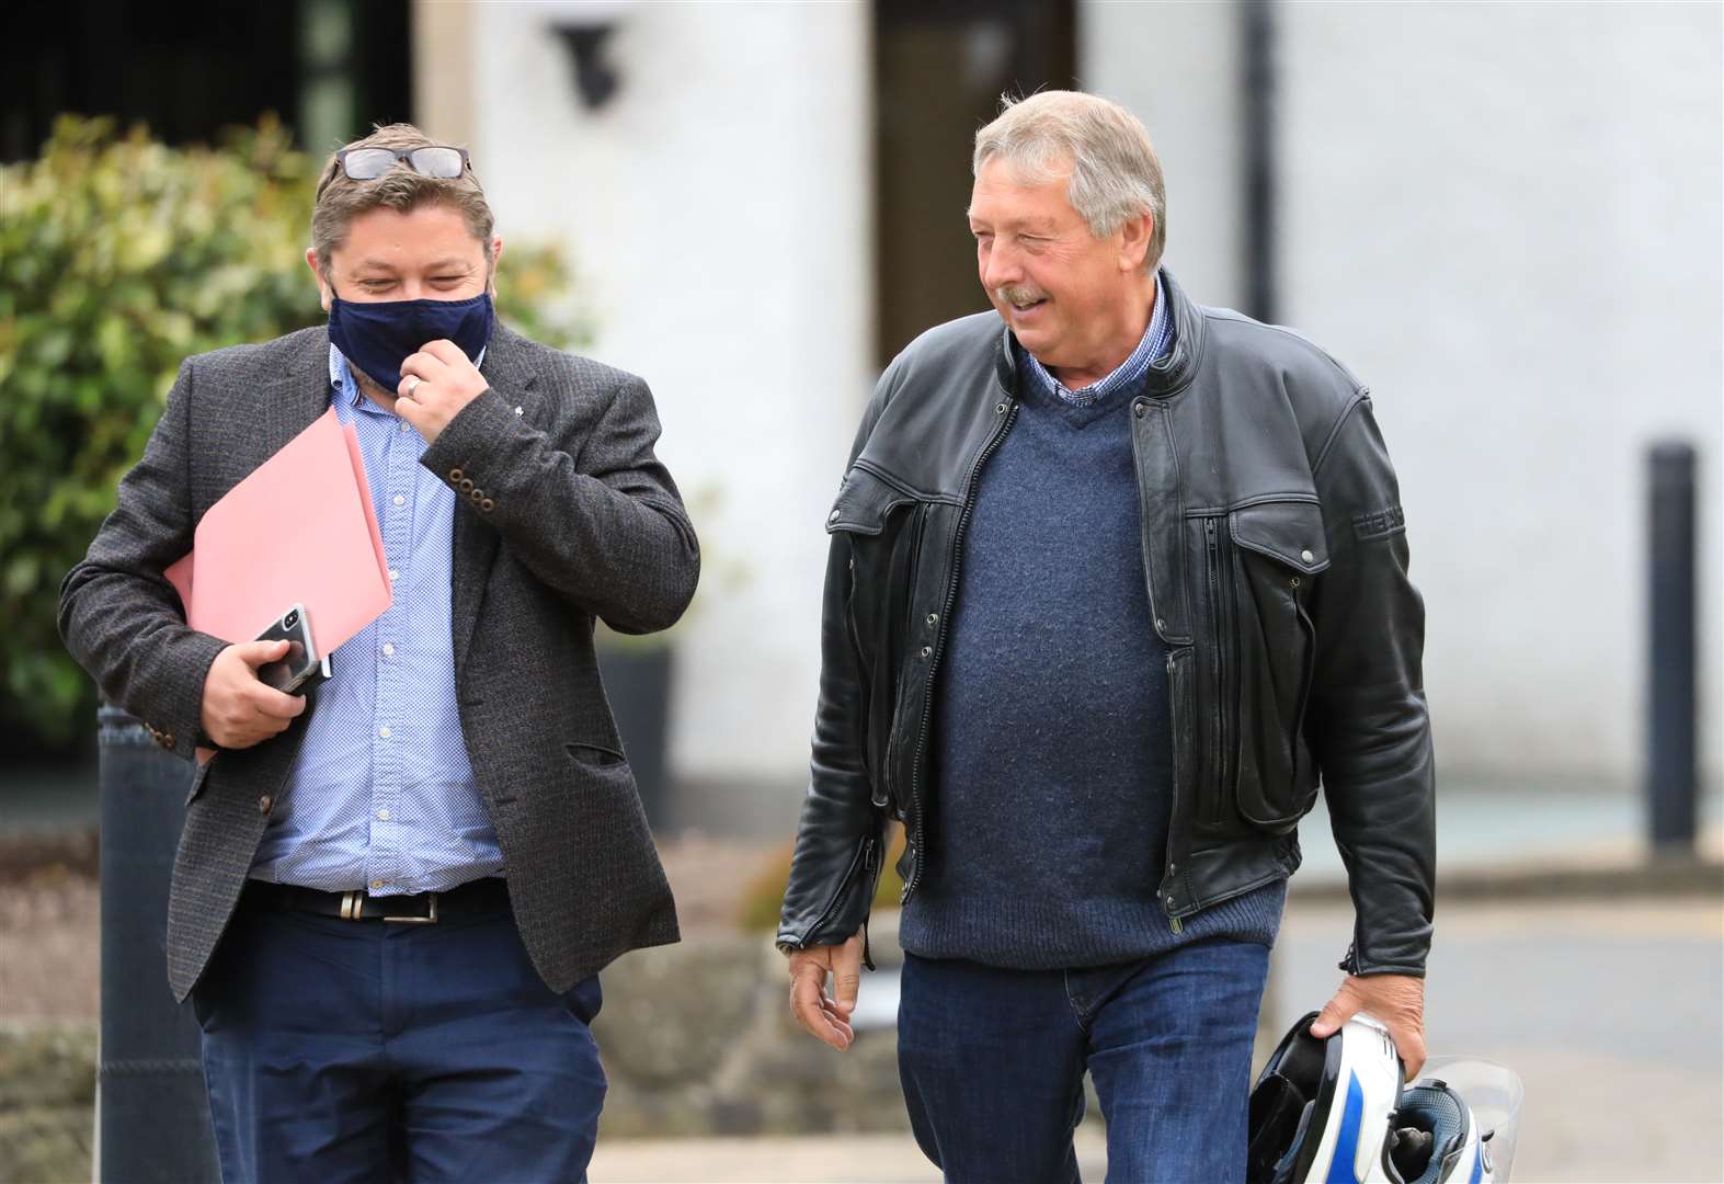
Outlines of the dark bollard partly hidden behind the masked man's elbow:
M 98 712 L 102 753 L 102 1184 L 219 1181 L 198 1025 L 167 989 L 167 881 L 191 767 Z

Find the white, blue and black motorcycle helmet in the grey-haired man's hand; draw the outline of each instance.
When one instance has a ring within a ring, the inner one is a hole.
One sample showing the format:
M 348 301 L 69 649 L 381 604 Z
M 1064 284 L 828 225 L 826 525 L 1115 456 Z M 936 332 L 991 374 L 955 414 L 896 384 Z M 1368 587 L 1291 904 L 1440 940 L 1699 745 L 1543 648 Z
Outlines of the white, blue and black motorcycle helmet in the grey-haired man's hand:
M 1317 1039 L 1310 1034 L 1315 1019 L 1310 1012 L 1293 1025 L 1252 1089 L 1250 1184 L 1508 1179 L 1507 1163 L 1493 1163 L 1495 1132 L 1479 1129 L 1460 1091 L 1440 1077 L 1403 1087 L 1400 1056 L 1383 1024 L 1355 1015 L 1327 1039 Z M 1514 1089 L 1519 1110 L 1519 1081 Z

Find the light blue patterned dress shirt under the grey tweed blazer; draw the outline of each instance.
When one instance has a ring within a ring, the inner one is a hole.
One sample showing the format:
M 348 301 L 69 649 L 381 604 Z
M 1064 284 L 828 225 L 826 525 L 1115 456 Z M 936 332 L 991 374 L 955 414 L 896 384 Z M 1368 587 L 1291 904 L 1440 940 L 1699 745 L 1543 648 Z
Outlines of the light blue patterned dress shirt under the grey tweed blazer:
M 426 441 L 359 389 L 329 348 L 336 417 L 359 433 L 395 601 L 334 651 L 252 877 L 372 896 L 503 870 L 460 734 L 450 574 L 455 491 Z

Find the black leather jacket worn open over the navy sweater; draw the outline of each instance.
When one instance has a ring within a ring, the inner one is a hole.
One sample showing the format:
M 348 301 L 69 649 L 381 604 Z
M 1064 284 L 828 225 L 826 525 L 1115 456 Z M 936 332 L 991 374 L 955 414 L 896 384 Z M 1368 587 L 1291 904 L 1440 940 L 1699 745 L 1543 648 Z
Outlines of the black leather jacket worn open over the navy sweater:
M 1321 781 L 1357 910 L 1341 967 L 1421 975 L 1434 886 L 1424 605 L 1369 393 L 1310 341 L 1162 281 L 1174 352 L 1131 405 L 1143 579 L 1171 655 L 1157 898 L 1177 925 L 1290 876 Z M 890 817 L 907 829 L 903 900 L 940 843 L 929 705 L 976 474 L 1019 414 L 1009 346 L 991 312 L 931 329 L 862 417 L 826 522 L 786 950 L 865 924 Z

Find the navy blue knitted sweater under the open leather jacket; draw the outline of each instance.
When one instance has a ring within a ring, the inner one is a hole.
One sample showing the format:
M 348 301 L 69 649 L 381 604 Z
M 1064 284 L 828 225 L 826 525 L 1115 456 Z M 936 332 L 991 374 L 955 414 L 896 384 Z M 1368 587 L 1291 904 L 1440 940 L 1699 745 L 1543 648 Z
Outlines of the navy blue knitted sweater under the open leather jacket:
M 1172 932 L 1167 650 L 1150 619 L 1131 453 L 1141 379 L 1090 405 L 1021 381 L 981 472 L 934 701 L 938 819 L 900 941 L 1065 969 L 1203 938 L 1272 944 L 1284 882 Z

